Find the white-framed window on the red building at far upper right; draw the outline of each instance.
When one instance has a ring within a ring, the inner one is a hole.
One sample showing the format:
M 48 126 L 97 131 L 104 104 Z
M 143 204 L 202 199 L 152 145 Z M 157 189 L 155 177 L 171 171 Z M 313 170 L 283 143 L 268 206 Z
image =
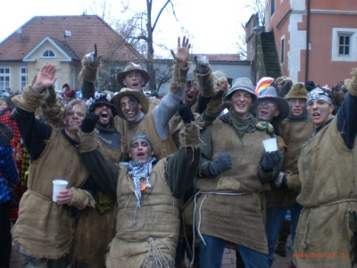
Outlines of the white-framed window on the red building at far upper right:
M 333 28 L 331 60 L 333 62 L 357 61 L 357 29 Z

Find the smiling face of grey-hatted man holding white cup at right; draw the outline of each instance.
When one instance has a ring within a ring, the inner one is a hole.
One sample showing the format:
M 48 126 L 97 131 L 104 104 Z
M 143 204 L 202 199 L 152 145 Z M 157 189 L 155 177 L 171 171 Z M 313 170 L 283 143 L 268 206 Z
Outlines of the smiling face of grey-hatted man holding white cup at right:
M 252 95 L 245 90 L 237 90 L 232 93 L 230 98 L 232 112 L 241 119 L 245 119 L 249 113 L 249 109 L 253 105 Z

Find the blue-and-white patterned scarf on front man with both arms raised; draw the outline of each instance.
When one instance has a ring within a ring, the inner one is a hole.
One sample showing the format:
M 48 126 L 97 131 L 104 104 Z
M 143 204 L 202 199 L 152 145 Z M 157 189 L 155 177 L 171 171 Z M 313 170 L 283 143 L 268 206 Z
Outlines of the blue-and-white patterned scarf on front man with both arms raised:
M 149 160 L 144 163 L 138 163 L 134 161 L 129 161 L 127 166 L 127 172 L 131 179 L 134 180 L 134 193 L 137 197 L 137 208 L 141 206 L 141 179 L 145 179 L 145 188 L 151 188 L 149 182 L 150 174 L 153 168 L 153 162 L 156 160 L 155 157 L 151 157 Z

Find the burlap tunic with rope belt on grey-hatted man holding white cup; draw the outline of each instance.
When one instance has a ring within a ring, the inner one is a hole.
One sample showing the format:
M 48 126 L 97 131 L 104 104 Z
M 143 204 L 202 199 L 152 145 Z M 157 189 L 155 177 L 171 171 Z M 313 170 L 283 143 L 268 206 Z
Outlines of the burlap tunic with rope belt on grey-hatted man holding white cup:
M 234 155 L 234 168 L 216 178 L 197 178 L 195 187 L 202 194 L 196 201 L 196 229 L 267 254 L 262 182 L 257 169 L 264 152 L 262 140 L 270 134 L 255 130 L 240 140 L 236 130 L 220 120 L 213 121 L 206 131 L 212 140 L 212 159 L 228 152 Z

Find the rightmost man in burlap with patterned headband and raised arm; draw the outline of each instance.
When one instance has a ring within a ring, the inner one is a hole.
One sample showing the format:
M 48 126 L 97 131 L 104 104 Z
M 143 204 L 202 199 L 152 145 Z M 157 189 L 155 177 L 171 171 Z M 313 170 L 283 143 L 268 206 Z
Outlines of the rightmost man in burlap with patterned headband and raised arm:
M 357 68 L 345 80 L 348 94 L 333 116 L 331 94 L 315 88 L 306 103 L 315 126 L 303 145 L 298 175 L 282 174 L 276 183 L 301 188 L 303 205 L 294 241 L 296 267 L 351 267 L 357 230 L 355 138 Z M 338 164 L 336 159 L 338 158 Z

